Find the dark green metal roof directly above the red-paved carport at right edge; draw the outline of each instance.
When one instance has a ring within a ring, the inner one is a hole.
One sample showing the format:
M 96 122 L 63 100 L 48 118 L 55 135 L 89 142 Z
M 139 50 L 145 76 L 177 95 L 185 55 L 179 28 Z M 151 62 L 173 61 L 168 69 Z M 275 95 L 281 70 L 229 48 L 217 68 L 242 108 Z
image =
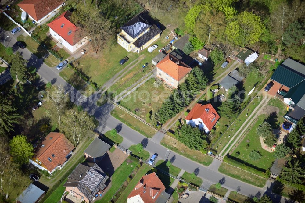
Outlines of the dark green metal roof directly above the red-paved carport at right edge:
M 292 70 L 284 68 L 282 65 L 279 65 L 271 76 L 271 79 L 291 88 L 304 80 L 304 77 Z

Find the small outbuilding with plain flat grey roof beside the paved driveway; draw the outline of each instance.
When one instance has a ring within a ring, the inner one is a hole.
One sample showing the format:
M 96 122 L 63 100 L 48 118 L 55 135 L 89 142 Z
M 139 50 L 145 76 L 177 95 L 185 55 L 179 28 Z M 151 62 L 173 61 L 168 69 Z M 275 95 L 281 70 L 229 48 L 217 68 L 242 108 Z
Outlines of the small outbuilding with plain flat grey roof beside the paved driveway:
M 111 146 L 98 137 L 85 149 L 84 155 L 90 162 L 99 162 Z

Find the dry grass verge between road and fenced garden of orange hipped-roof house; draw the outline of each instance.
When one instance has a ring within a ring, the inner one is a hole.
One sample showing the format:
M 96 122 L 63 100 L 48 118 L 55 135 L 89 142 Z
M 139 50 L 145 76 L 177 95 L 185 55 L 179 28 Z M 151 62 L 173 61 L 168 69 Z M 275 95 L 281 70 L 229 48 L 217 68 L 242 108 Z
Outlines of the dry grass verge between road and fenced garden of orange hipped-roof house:
M 125 123 L 127 126 L 131 127 L 132 129 L 138 131 L 145 137 L 150 138 L 154 136 L 157 132 L 154 128 L 136 119 L 134 116 L 131 116 L 129 113 L 120 109 L 119 107 L 113 109 L 111 115 L 116 119 L 120 120 L 121 122 Z

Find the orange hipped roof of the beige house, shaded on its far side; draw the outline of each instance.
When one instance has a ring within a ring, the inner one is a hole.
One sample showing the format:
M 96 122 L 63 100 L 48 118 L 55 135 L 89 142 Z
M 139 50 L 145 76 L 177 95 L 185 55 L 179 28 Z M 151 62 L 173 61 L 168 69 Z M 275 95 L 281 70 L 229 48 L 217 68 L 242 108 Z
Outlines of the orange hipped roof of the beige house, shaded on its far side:
M 180 81 L 192 70 L 191 67 L 171 54 L 167 54 L 156 66 L 177 81 Z

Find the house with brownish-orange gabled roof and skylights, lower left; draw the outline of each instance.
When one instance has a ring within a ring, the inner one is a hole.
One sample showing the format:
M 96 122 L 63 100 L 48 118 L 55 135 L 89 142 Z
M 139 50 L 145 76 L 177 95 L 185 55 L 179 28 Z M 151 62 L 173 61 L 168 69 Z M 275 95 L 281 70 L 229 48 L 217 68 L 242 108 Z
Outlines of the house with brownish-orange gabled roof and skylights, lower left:
M 62 133 L 49 133 L 40 145 L 30 163 L 50 174 L 57 168 L 61 169 L 74 150 L 73 144 Z

